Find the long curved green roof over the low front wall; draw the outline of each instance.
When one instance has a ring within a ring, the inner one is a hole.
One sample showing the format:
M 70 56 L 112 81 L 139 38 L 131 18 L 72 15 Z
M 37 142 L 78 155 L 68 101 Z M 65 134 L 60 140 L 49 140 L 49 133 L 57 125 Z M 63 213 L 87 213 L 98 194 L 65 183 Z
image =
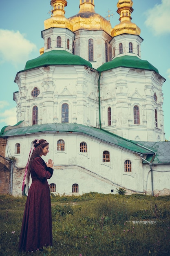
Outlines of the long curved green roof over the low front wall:
M 1 134 L 1 137 L 29 135 L 38 132 L 78 132 L 133 152 L 153 155 L 152 150 L 141 147 L 137 145 L 137 143 L 135 143 L 134 141 L 124 139 L 118 135 L 115 135 L 114 133 L 105 131 L 103 129 L 84 126 L 81 124 L 41 124 L 19 127 L 4 131 L 4 133 Z

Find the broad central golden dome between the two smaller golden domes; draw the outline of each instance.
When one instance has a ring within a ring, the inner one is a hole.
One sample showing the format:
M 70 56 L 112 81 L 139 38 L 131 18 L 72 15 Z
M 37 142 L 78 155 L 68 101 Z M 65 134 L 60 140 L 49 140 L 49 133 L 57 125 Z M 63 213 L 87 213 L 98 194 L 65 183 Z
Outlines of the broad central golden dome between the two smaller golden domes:
M 111 25 L 108 20 L 95 13 L 94 0 L 80 0 L 79 13 L 69 18 L 73 23 L 73 31 L 79 29 L 104 30 L 110 35 Z

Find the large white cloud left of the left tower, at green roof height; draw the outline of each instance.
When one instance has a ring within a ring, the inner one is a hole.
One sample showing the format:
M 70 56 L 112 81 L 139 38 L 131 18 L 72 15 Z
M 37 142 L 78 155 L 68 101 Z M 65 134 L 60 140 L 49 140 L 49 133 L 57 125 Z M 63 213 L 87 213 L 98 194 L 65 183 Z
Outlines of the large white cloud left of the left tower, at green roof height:
M 25 63 L 36 45 L 24 38 L 19 31 L 0 29 L 0 62 L 13 65 Z

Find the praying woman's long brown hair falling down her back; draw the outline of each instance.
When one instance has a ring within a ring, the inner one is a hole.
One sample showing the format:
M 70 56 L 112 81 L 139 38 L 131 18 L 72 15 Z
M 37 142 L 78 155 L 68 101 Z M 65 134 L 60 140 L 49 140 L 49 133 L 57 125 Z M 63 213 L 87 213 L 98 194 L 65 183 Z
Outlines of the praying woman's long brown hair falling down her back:
M 40 157 L 40 155 L 42 155 L 43 148 L 49 145 L 49 142 L 47 142 L 45 139 L 40 139 L 38 142 L 39 143 L 37 143 L 37 140 L 33 141 L 35 150 L 33 151 L 31 158 L 29 160 L 28 170 L 26 174 L 28 179 L 30 177 L 30 171 L 31 171 L 33 160 L 35 159 L 35 157 Z

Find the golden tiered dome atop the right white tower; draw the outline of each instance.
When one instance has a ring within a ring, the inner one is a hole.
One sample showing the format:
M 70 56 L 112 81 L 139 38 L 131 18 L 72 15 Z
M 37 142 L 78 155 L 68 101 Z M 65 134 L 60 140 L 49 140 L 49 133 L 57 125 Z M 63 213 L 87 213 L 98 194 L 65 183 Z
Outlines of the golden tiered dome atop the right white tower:
M 118 36 L 121 34 L 132 34 L 132 35 L 140 35 L 141 30 L 135 23 L 132 23 L 131 13 L 133 11 L 132 8 L 133 2 L 132 0 L 119 0 L 117 3 L 117 13 L 120 15 L 120 23 L 116 25 L 112 31 L 112 36 Z

